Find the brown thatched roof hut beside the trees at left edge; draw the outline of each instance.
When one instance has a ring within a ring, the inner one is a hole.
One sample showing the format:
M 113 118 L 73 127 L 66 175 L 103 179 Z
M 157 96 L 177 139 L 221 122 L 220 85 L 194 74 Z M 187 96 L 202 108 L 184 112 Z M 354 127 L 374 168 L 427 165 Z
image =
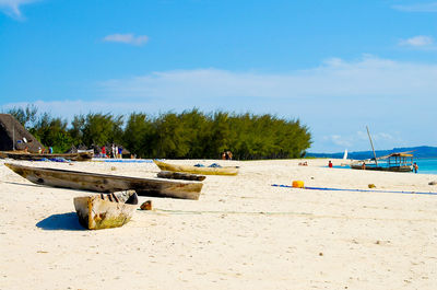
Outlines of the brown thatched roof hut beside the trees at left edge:
M 38 152 L 43 144 L 10 114 L 0 114 L 0 151 Z

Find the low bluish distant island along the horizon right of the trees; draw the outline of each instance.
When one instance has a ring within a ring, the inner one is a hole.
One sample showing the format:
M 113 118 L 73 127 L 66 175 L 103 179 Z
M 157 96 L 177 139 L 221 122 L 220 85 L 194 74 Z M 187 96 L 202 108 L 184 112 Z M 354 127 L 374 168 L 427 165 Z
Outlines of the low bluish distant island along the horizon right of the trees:
M 406 152 L 412 151 L 411 153 L 414 158 L 437 158 L 437 147 L 429 146 L 421 146 L 421 147 L 405 147 L 405 148 L 393 148 L 391 150 L 376 150 L 377 156 L 388 155 L 394 152 Z M 306 154 L 307 158 L 332 158 L 332 159 L 342 159 L 344 152 L 339 153 L 310 153 Z M 357 152 L 349 152 L 347 159 L 370 159 L 374 158 L 373 151 L 357 151 Z

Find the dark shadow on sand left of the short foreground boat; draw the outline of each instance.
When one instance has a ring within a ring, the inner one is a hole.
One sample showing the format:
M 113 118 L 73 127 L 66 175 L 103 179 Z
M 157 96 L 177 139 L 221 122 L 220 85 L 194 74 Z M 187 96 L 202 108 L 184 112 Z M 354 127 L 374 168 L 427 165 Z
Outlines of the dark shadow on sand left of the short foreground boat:
M 85 231 L 79 223 L 75 212 L 51 214 L 48 218 L 39 221 L 36 227 L 46 231 Z

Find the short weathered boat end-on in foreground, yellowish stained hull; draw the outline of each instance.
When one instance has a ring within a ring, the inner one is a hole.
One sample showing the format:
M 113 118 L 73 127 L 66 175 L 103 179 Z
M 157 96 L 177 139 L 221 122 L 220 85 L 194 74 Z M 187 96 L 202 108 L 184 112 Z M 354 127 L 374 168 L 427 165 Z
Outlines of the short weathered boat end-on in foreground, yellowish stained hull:
M 130 221 L 138 207 L 134 190 L 73 199 L 79 222 L 88 230 L 118 228 Z

